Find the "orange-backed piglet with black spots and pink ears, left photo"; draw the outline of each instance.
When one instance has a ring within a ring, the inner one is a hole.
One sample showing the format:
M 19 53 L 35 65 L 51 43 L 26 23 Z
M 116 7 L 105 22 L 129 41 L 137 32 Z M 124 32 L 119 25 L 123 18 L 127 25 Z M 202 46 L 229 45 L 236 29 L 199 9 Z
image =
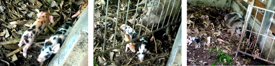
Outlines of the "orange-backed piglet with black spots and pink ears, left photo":
M 49 22 L 53 23 L 53 16 L 50 12 L 40 12 L 37 14 L 38 19 L 32 24 L 32 26 L 25 31 L 21 37 L 21 41 L 18 46 L 21 47 L 23 44 L 26 46 L 23 48 L 23 56 L 27 57 L 27 50 L 32 45 L 34 38 L 40 34 L 43 34 L 43 30 L 48 27 Z

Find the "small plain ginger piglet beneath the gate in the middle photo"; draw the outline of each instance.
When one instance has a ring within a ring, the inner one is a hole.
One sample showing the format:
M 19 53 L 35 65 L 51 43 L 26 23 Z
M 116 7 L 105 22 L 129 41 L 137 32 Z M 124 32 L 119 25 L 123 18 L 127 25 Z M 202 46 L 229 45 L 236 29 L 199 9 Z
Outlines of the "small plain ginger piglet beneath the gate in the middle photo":
M 124 38 L 124 41 L 125 41 L 125 42 L 131 40 L 130 37 L 129 37 L 129 35 L 125 34 L 124 36 L 125 36 L 125 38 Z M 135 50 L 135 45 L 136 45 L 136 44 L 132 44 L 132 43 L 127 44 L 127 45 L 126 45 L 125 53 L 127 52 L 128 47 L 130 48 L 131 51 L 136 52 L 136 50 Z

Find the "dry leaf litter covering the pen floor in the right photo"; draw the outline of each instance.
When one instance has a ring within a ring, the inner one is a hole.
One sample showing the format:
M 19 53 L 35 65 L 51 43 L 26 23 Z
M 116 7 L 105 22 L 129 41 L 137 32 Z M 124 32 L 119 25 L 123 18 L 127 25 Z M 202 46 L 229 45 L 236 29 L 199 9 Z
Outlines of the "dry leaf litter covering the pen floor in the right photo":
M 217 57 L 218 54 L 215 56 L 216 50 L 212 49 L 217 47 L 222 49 L 222 52 L 228 54 L 228 56 L 235 57 L 239 38 L 235 38 L 235 35 L 232 35 L 229 32 L 230 29 L 224 24 L 224 15 L 231 12 L 231 7 L 223 10 L 218 7 L 207 7 L 205 5 L 187 5 L 187 38 L 200 38 L 200 44 L 202 45 L 198 48 L 199 45 L 196 42 L 193 42 L 190 46 L 187 44 L 187 63 L 190 63 L 188 65 L 214 64 L 217 59 L 212 58 Z M 202 19 L 202 15 L 209 16 L 209 20 Z M 240 50 L 245 50 L 244 45 L 242 46 L 243 48 L 240 47 Z M 266 65 L 264 61 L 251 60 L 253 57 L 248 55 L 238 56 L 238 58 L 240 60 L 236 61 L 236 64 L 240 63 L 239 65 Z M 233 59 L 230 62 L 232 61 Z M 228 64 L 217 63 L 216 65 Z

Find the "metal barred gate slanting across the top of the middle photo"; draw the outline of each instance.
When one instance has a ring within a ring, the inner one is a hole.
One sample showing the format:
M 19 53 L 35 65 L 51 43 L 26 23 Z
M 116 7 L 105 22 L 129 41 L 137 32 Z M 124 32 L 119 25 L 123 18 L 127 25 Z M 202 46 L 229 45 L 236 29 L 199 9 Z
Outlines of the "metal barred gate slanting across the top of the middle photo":
M 160 2 L 160 0 L 145 0 L 146 2 L 145 2 L 145 5 L 147 5 L 147 2 L 150 2 L 151 4 L 153 4 L 154 3 L 154 1 L 158 1 L 158 4 L 154 4 L 154 5 L 149 5 L 149 6 L 145 6 L 145 7 L 142 7 L 142 8 L 147 8 L 147 7 L 153 7 L 153 6 L 158 6 L 158 8 L 164 8 L 164 6 L 163 7 L 159 7 L 159 5 L 160 4 L 163 4 L 163 5 L 165 5 L 165 4 L 169 4 L 170 5 L 170 2 L 174 2 L 174 4 L 172 4 L 172 9 L 174 8 L 174 5 L 179 5 L 179 3 L 178 4 L 175 4 L 175 2 L 180 2 L 181 0 L 165 0 L 163 3 L 161 3 Z M 94 0 L 94 2 L 95 2 L 95 0 Z M 119 3 L 118 3 L 118 8 L 117 8 L 117 12 L 116 13 L 114 13 L 114 14 L 111 14 L 111 15 L 107 15 L 107 13 L 108 13 L 108 2 L 109 2 L 109 0 L 107 0 L 107 4 L 106 4 L 106 15 L 105 16 L 101 16 L 101 17 L 98 17 L 98 18 L 94 18 L 94 22 L 95 22 L 95 20 L 96 19 L 99 19 L 99 18 L 106 18 L 106 20 L 108 20 L 107 19 L 107 16 L 112 16 L 112 15 L 117 15 L 117 17 L 119 16 L 119 14 L 120 13 L 125 13 L 125 12 L 127 12 L 127 16 L 126 16 L 126 19 L 128 18 L 128 12 L 130 12 L 130 11 L 135 11 L 135 15 L 137 15 L 137 11 L 138 11 L 138 9 L 142 9 L 142 8 L 138 8 L 139 7 L 139 0 L 138 0 L 138 6 L 136 7 L 136 9 L 132 9 L 132 10 L 129 10 L 129 6 L 130 6 L 130 0 L 128 0 L 128 8 L 127 8 L 127 11 L 123 11 L 123 12 L 119 12 L 119 5 L 120 5 L 120 0 L 118 1 Z M 95 4 L 96 5 L 96 4 Z M 168 11 L 168 9 L 169 9 L 169 5 L 168 5 L 168 8 L 167 8 L 167 11 Z M 171 6 L 171 5 L 170 5 Z M 158 10 L 158 8 L 157 8 L 157 10 Z M 151 8 L 151 10 L 152 10 L 153 8 Z M 178 11 L 180 11 L 180 9 L 181 9 L 181 4 L 180 4 L 180 8 L 178 9 L 178 8 L 176 8 L 176 10 L 178 10 Z M 95 10 L 94 10 L 95 11 Z M 166 14 L 163 14 L 163 15 L 169 15 L 169 14 L 167 14 L 167 11 L 166 11 Z M 145 12 L 145 10 L 143 11 L 143 13 Z M 150 11 L 151 12 L 151 11 Z M 149 12 L 149 13 L 150 13 Z M 147 12 L 148 13 L 148 12 Z M 161 12 L 161 13 L 163 13 L 163 11 Z M 179 12 L 180 13 L 180 12 Z M 144 13 L 145 14 L 145 13 Z M 170 16 L 177 16 L 177 18 L 178 18 L 178 15 L 179 14 L 174 14 L 174 15 L 171 15 L 172 14 L 172 11 L 171 11 L 171 13 L 170 13 Z M 162 15 L 162 14 L 161 14 Z M 170 16 L 169 17 L 167 17 L 167 18 L 170 18 Z M 116 18 L 117 18 L 116 17 Z M 155 17 L 156 17 L 156 15 L 155 15 Z M 106 44 L 106 22 L 107 21 L 105 21 L 105 32 L 104 32 L 104 44 L 103 44 L 103 51 L 101 51 L 101 52 L 99 52 L 99 53 L 97 53 L 97 54 L 94 54 L 94 57 L 97 57 L 97 56 L 99 56 L 99 55 L 101 55 L 101 54 L 104 54 L 104 53 L 107 53 L 107 52 L 109 52 L 109 51 L 111 51 L 111 50 L 114 50 L 114 49 L 116 49 L 116 48 L 119 48 L 119 47 L 122 47 L 122 46 L 124 46 L 124 45 L 126 45 L 126 44 L 128 44 L 128 43 L 130 43 L 130 42 L 133 42 L 133 41 L 136 41 L 136 40 L 138 40 L 138 39 L 140 39 L 140 38 L 142 38 L 142 37 L 145 37 L 145 36 L 148 36 L 148 35 L 150 35 L 150 34 L 152 34 L 152 33 L 154 33 L 154 32 L 156 32 L 156 31 L 159 31 L 159 30 L 162 30 L 162 29 L 164 29 L 164 28 L 166 28 L 166 27 L 169 27 L 169 26 L 171 26 L 171 25 L 174 25 L 174 24 L 176 24 L 176 23 L 178 23 L 178 22 L 181 22 L 182 20 L 181 20 L 181 18 L 182 18 L 182 16 L 180 15 L 180 19 L 175 19 L 175 20 L 173 20 L 173 21 L 175 21 L 175 22 L 171 22 L 171 24 L 168 24 L 169 22 L 167 22 L 167 25 L 159 25 L 159 23 L 158 23 L 158 25 L 157 25 L 157 29 L 156 30 L 153 30 L 153 28 L 151 29 L 151 31 L 150 32 L 148 32 L 148 33 L 146 33 L 147 31 L 148 31 L 148 29 L 147 29 L 147 27 L 148 27 L 148 24 L 147 25 L 144 25 L 144 26 L 146 26 L 146 29 L 144 30 L 145 31 L 145 34 L 144 35 L 140 35 L 140 34 L 142 34 L 141 33 L 141 29 L 139 29 L 139 30 L 136 30 L 137 32 L 138 32 L 138 37 L 137 38 L 134 38 L 134 39 L 132 39 L 131 38 L 131 40 L 130 41 L 127 41 L 127 42 L 124 42 L 124 40 L 122 40 L 122 44 L 119 44 L 119 45 L 116 45 L 116 46 L 114 46 L 114 44 L 116 43 L 116 41 L 115 41 L 115 39 L 114 39 L 114 43 L 112 44 L 113 45 L 113 47 L 110 47 L 110 48 L 108 48 L 108 49 L 106 49 L 105 50 L 105 44 Z M 118 18 L 117 18 L 118 19 Z M 118 23 L 118 21 L 117 21 L 117 19 L 116 19 L 116 23 L 115 23 L 115 33 L 117 32 L 116 30 L 117 30 L 117 23 Z M 161 18 L 160 18 L 161 19 Z M 164 21 L 165 21 L 165 19 L 166 19 L 166 17 L 164 18 Z M 174 17 L 173 17 L 173 19 L 174 19 Z M 156 19 L 154 19 L 154 20 L 156 20 Z M 169 21 L 169 20 L 168 20 Z M 141 21 L 141 25 L 142 25 L 142 22 L 143 21 Z M 131 28 L 135 28 L 135 24 L 136 23 L 136 18 L 134 18 L 134 25 L 133 25 L 133 27 L 131 27 Z M 164 23 L 164 22 L 163 22 Z M 127 20 L 125 21 L 125 24 L 127 24 Z M 152 27 L 154 26 L 154 24 L 152 25 Z M 136 27 L 142 27 L 142 26 L 140 26 L 140 25 L 138 25 L 138 26 L 136 26 Z M 123 31 L 124 33 L 125 33 L 125 29 L 124 29 L 124 31 Z M 133 32 L 132 32 L 132 34 L 131 34 L 132 36 L 133 36 Z M 114 38 L 116 38 L 116 34 L 114 34 Z M 124 34 L 123 34 L 123 39 L 124 39 Z

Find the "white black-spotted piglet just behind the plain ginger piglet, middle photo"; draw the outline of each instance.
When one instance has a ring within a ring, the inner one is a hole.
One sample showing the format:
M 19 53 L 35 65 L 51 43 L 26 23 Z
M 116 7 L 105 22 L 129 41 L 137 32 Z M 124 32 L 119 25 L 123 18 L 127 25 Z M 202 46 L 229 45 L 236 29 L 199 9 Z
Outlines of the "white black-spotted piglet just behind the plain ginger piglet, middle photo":
M 128 34 L 128 35 L 130 35 L 130 37 L 132 37 L 131 34 L 132 34 L 132 30 L 133 30 L 133 37 L 132 37 L 132 39 L 138 37 L 138 33 L 137 33 L 133 28 L 131 28 L 131 27 L 128 26 L 128 25 L 122 24 L 122 25 L 120 26 L 120 29 L 121 29 L 121 30 L 124 30 L 124 29 L 125 29 L 125 31 L 126 31 L 125 33 Z

